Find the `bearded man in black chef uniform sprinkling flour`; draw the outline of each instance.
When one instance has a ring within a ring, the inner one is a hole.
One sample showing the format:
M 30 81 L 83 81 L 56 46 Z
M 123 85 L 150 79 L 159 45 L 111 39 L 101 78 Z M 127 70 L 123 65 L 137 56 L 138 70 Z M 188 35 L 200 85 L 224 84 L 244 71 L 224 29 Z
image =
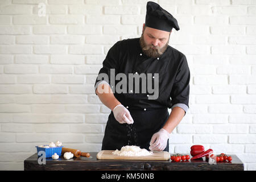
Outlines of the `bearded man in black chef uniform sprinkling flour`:
M 141 38 L 118 41 L 109 49 L 94 85 L 101 102 L 111 109 L 102 150 L 135 145 L 169 151 L 170 133 L 189 108 L 190 79 L 185 55 L 168 46 L 173 28 L 179 30 L 174 16 L 147 2 Z

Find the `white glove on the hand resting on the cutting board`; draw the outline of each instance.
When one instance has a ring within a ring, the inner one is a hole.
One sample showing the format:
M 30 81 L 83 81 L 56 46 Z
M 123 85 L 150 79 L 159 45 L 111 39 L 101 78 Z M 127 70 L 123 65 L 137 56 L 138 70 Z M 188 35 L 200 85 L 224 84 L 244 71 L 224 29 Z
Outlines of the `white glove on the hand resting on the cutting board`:
M 163 151 L 167 146 L 169 135 L 168 131 L 164 129 L 159 130 L 152 136 L 149 149 L 151 151 Z

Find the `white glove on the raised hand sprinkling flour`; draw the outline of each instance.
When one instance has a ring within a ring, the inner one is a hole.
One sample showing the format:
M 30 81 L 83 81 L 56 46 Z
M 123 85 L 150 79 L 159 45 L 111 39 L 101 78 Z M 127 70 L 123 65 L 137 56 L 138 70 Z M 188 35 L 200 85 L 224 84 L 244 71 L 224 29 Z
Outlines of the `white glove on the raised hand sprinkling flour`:
M 123 123 L 133 124 L 134 122 L 129 110 L 126 109 L 125 106 L 121 104 L 114 107 L 113 113 L 114 113 L 115 119 L 117 119 L 117 121 L 121 124 Z

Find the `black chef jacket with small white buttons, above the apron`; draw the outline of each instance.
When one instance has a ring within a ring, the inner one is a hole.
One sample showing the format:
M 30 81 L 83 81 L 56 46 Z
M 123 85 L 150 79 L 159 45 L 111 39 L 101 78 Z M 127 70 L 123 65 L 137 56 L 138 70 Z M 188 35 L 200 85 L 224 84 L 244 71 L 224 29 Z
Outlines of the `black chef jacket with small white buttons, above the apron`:
M 171 108 L 175 104 L 188 106 L 190 72 L 185 55 L 168 46 L 163 55 L 158 58 L 150 58 L 143 54 L 139 44 L 139 38 L 122 40 L 110 48 L 100 73 L 106 73 L 110 85 L 110 69 L 117 73 L 159 73 L 159 97 L 156 100 L 148 100 L 148 93 L 114 93 L 115 98 L 122 105 L 130 109 L 156 109 L 162 107 Z M 152 78 L 153 80 L 154 78 Z M 96 83 L 99 81 L 96 80 Z M 117 84 L 119 80 L 115 81 Z M 154 84 L 154 82 L 153 82 Z M 115 85 L 110 85 L 115 86 Z M 128 87 L 127 87 L 128 88 Z

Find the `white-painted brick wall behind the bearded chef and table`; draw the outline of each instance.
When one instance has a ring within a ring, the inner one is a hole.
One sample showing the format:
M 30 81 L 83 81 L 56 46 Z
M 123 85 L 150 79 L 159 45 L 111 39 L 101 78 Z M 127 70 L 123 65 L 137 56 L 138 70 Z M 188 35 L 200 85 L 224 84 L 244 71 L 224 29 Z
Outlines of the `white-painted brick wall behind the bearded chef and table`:
M 0 170 L 23 169 L 36 145 L 55 140 L 100 151 L 110 110 L 94 81 L 115 42 L 141 36 L 146 2 L 0 1 Z M 203 144 L 256 170 L 256 1 L 155 2 L 177 18 L 170 45 L 191 69 L 190 110 L 170 152 Z

